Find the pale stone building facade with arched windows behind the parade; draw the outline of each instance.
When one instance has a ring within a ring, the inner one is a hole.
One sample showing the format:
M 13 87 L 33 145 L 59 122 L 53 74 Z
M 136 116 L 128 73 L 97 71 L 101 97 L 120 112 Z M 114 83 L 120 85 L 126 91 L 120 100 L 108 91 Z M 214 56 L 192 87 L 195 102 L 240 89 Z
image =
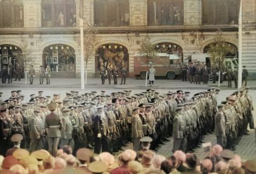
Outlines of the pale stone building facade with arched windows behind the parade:
M 94 25 L 99 41 L 87 64 L 88 76 L 99 75 L 101 62 L 114 58 L 134 75 L 134 57 L 149 36 L 161 52 L 178 52 L 182 60 L 203 53 L 217 29 L 238 47 L 239 0 L 84 0 L 84 30 Z M 255 0 L 243 2 L 243 65 L 256 72 Z M 52 76 L 79 77 L 80 1 L 0 0 L 0 65 L 15 63 L 26 42 L 32 65 L 51 66 Z M 234 48 L 237 52 L 237 48 Z M 255 64 L 255 65 L 254 65 Z

